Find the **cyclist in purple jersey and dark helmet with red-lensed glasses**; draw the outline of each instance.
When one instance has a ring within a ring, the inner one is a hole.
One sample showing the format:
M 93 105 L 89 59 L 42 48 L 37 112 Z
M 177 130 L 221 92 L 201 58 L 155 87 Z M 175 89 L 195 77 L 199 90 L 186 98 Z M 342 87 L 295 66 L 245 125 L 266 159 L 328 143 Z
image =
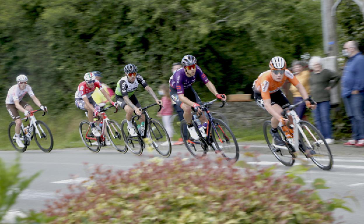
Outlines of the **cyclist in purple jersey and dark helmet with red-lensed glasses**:
M 201 122 L 206 122 L 207 119 L 201 111 L 199 103 L 201 99 L 198 97 L 196 91 L 193 89 L 192 84 L 199 77 L 203 83 L 207 86 L 211 93 L 213 93 L 218 99 L 225 100 L 225 94 L 218 94 L 214 84 L 212 84 L 207 76 L 202 72 L 201 68 L 196 65 L 196 58 L 190 54 L 185 55 L 182 58 L 183 68 L 178 69 L 170 78 L 170 95 L 172 100 L 181 107 L 183 110 L 183 118 L 187 122 L 187 129 L 190 135 L 194 139 L 198 139 L 198 134 L 194 129 L 192 122 L 192 110 L 201 114 Z

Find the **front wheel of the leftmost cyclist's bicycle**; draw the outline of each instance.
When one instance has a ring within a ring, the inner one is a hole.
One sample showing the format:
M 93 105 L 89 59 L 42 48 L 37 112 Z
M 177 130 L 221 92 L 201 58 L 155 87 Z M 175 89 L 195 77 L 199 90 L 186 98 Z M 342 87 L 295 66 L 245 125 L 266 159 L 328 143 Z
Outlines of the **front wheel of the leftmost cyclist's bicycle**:
M 50 152 L 53 149 L 53 136 L 49 127 L 43 121 L 36 121 L 37 129 L 33 129 L 35 142 L 43 152 Z M 40 138 L 39 138 L 40 135 Z

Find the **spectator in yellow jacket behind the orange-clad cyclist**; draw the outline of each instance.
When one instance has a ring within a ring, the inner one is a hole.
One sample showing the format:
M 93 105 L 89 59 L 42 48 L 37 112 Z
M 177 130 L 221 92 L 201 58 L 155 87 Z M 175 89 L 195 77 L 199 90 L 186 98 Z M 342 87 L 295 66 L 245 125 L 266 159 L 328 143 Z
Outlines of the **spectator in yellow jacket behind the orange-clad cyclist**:
M 310 94 L 310 87 L 309 87 L 309 78 L 310 72 L 308 70 L 304 70 L 303 63 L 300 61 L 294 61 L 293 64 L 293 74 L 296 76 L 298 81 L 305 87 L 308 94 Z M 297 88 L 294 85 L 291 85 L 289 90 L 293 94 L 293 103 L 298 103 L 303 100 L 301 94 L 298 92 Z M 305 103 L 301 103 L 298 107 L 294 109 L 300 119 L 302 119 L 303 115 L 305 114 L 306 105 Z

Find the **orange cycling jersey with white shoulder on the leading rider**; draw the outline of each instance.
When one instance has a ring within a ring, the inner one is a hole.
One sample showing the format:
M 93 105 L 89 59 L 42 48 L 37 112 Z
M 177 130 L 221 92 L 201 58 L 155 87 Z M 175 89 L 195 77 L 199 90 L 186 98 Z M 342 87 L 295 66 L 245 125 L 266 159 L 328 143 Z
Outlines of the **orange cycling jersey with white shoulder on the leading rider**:
M 274 81 L 272 77 L 272 73 L 270 70 L 265 71 L 259 75 L 259 77 L 254 81 L 255 90 L 262 94 L 262 99 L 270 99 L 270 94 L 275 93 L 284 84 L 284 82 L 288 79 L 292 83 L 292 85 L 297 86 L 298 80 L 297 78 L 290 72 L 288 69 L 285 70 L 284 76 L 280 82 Z

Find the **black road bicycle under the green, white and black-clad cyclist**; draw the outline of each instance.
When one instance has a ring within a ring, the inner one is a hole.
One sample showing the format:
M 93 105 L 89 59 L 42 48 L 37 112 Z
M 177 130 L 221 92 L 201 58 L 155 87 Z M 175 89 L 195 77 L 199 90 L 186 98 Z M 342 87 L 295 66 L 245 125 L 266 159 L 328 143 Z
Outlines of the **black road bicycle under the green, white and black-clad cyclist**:
M 149 106 L 143 107 L 141 109 L 142 114 L 145 115 L 145 127 L 144 130 L 139 131 L 137 128 L 137 122 L 140 118 L 139 115 L 135 115 L 132 117 L 132 125 L 134 126 L 135 131 L 137 132 L 137 136 L 131 136 L 127 129 L 127 121 L 124 119 L 121 122 L 121 129 L 123 133 L 123 138 L 125 141 L 126 147 L 135 155 L 141 155 L 144 148 L 146 147 L 146 142 L 153 146 L 155 150 L 163 157 L 169 157 L 172 152 L 172 145 L 169 135 L 165 127 L 156 119 L 149 117 L 147 109 L 158 105 L 158 103 L 153 103 Z M 160 111 L 162 109 L 161 105 L 159 106 Z M 147 138 L 147 139 L 145 139 Z M 146 141 L 145 141 L 146 140 Z

